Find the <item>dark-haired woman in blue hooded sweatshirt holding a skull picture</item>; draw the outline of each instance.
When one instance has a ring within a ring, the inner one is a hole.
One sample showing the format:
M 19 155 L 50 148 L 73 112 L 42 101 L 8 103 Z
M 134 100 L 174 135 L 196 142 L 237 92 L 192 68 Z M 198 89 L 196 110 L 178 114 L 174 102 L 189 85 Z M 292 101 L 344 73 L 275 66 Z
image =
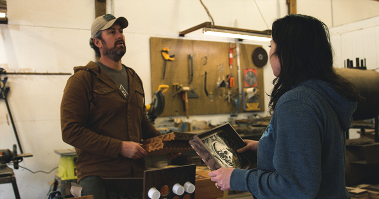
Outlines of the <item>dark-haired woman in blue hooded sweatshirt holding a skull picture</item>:
M 356 101 L 354 86 L 336 74 L 324 23 L 289 15 L 272 24 L 270 63 L 275 79 L 272 119 L 259 144 L 257 169 L 220 168 L 209 173 L 221 190 L 255 198 L 350 198 L 345 186 L 345 131 Z

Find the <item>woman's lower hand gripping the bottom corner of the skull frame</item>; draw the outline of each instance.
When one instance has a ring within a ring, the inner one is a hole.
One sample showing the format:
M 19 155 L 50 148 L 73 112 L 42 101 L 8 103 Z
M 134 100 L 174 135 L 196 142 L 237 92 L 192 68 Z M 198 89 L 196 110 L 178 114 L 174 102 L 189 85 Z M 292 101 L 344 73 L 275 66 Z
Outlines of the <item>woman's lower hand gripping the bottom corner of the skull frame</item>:
M 216 182 L 215 186 L 219 187 L 222 191 L 228 191 L 230 189 L 230 176 L 235 168 L 219 168 L 217 170 L 208 173 L 211 180 Z

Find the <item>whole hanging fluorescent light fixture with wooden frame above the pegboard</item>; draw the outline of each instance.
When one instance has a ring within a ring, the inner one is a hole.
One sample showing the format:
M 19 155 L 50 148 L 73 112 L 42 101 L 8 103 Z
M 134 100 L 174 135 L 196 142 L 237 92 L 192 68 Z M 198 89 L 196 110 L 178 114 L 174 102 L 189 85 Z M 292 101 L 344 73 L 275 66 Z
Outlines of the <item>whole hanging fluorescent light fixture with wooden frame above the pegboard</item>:
M 271 30 L 265 31 L 256 31 L 256 30 L 248 30 L 248 29 L 240 29 L 240 28 L 230 28 L 224 26 L 214 26 L 211 25 L 211 22 L 205 22 L 193 28 L 189 28 L 187 30 L 179 32 L 179 36 L 184 36 L 187 33 L 193 32 L 195 30 L 203 28 L 203 33 L 205 35 L 213 35 L 213 36 L 222 36 L 229 38 L 237 38 L 237 39 L 249 39 L 256 41 L 270 41 L 271 40 Z

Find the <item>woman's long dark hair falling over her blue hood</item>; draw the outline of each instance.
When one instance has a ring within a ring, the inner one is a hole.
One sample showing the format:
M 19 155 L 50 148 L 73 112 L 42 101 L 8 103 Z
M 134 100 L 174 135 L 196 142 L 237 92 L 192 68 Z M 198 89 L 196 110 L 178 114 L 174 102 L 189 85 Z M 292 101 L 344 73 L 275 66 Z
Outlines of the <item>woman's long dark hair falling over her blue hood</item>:
M 270 113 L 280 96 L 309 79 L 328 82 L 351 101 L 362 99 L 354 85 L 335 72 L 329 30 L 320 20 L 306 15 L 277 19 L 272 24 L 272 40 L 276 44 L 274 54 L 279 59 L 280 74 L 272 82 Z

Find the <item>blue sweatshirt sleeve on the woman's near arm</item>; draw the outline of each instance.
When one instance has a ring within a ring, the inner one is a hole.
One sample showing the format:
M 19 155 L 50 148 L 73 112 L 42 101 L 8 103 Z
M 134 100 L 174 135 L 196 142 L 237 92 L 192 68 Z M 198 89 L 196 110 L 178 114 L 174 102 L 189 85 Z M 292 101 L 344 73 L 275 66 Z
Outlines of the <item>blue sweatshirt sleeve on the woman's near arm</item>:
M 263 162 L 271 161 L 273 168 L 234 169 L 231 189 L 251 192 L 257 198 L 314 198 L 321 182 L 321 114 L 306 102 L 289 100 L 275 107 L 270 124 L 271 134 L 263 135 L 259 144 L 272 139 L 271 146 L 262 146 L 274 148 L 272 160 L 265 154 L 258 156 Z

